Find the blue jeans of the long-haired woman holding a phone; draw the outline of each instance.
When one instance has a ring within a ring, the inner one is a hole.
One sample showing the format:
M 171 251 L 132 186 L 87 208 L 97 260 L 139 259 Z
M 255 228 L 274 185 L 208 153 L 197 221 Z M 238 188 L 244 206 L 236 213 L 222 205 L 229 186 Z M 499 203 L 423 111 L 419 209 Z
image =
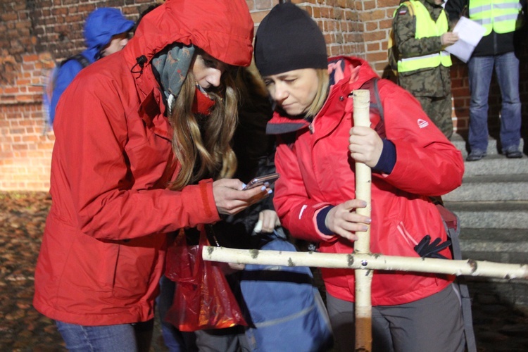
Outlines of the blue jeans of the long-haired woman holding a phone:
M 134 324 L 85 326 L 56 321 L 68 351 L 148 352 L 153 320 Z

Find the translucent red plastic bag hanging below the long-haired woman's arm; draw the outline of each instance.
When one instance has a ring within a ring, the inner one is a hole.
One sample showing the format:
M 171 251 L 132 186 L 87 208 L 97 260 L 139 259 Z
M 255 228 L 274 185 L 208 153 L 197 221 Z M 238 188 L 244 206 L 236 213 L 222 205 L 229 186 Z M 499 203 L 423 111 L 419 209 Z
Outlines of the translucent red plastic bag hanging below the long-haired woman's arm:
M 176 282 L 176 291 L 165 321 L 185 332 L 247 325 L 220 267 L 203 260 L 204 245 L 203 231 L 197 246 L 188 246 L 180 231 L 169 246 L 165 275 Z

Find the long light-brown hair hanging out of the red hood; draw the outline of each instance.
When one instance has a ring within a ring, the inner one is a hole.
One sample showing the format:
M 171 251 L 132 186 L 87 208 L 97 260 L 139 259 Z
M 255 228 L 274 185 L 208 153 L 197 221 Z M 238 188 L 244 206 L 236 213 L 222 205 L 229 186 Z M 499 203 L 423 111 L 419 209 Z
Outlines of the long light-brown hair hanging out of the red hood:
M 215 102 L 210 115 L 192 112 L 195 94 L 196 80 L 189 70 L 169 118 L 174 128 L 172 149 L 181 165 L 171 184 L 176 190 L 208 177 L 232 177 L 237 169 L 231 141 L 238 122 L 238 92 L 232 73 L 223 73 L 220 87 L 208 91 Z

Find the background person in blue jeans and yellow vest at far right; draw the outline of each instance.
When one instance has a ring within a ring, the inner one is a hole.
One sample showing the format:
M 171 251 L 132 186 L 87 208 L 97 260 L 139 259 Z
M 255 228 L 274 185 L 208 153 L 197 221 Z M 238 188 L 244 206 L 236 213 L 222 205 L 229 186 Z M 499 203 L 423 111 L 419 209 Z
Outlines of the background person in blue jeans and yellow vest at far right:
M 465 16 L 484 26 L 486 32 L 467 62 L 470 80 L 470 126 L 467 161 L 479 161 L 488 149 L 488 111 L 491 76 L 496 73 L 501 89 L 502 153 L 506 158 L 522 158 L 521 101 L 519 96 L 520 45 L 526 40 L 524 26 L 525 0 L 449 0 L 449 20 L 458 22 Z

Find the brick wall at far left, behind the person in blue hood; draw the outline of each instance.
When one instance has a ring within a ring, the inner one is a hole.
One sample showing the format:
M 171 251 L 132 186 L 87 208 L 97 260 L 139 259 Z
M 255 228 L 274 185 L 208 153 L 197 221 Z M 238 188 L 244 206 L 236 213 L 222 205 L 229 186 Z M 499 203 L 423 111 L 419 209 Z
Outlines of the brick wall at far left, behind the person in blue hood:
M 0 190 L 49 189 L 54 133 L 42 113 L 43 85 L 55 62 L 84 49 L 84 19 L 120 8 L 131 20 L 151 0 L 0 1 Z

